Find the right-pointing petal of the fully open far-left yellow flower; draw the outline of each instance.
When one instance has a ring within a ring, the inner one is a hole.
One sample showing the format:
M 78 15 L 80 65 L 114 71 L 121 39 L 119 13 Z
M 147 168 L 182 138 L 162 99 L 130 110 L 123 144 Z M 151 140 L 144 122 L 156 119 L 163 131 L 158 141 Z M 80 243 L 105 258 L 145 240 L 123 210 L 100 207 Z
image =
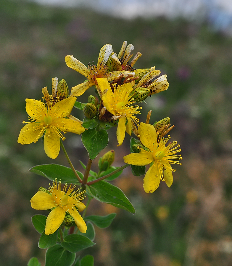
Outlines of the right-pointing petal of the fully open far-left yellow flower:
M 81 125 L 79 121 L 75 121 L 68 118 L 60 118 L 56 121 L 56 126 L 58 129 L 62 130 L 63 132 L 72 132 L 75 134 L 81 134 L 85 131 L 85 128 Z

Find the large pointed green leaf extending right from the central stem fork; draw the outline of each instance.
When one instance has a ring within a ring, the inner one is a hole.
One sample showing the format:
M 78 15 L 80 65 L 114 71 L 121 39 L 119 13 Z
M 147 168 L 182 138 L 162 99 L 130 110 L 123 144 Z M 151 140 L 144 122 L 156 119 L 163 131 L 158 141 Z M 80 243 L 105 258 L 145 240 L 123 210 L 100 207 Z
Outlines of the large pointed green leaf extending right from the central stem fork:
M 88 192 L 100 202 L 105 202 L 131 213 L 135 213 L 135 208 L 122 190 L 117 186 L 102 180 L 90 186 L 86 185 L 86 189 L 88 189 Z

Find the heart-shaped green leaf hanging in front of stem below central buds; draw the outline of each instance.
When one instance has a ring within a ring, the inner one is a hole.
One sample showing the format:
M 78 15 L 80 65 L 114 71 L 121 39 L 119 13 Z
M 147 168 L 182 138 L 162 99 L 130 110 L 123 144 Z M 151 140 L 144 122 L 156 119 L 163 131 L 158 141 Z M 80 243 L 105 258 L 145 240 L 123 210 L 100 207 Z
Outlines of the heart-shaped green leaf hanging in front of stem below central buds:
M 88 129 L 81 134 L 81 140 L 86 150 L 88 151 L 89 158 L 94 160 L 97 155 L 108 144 L 108 133 L 105 129 L 96 131 L 94 128 Z

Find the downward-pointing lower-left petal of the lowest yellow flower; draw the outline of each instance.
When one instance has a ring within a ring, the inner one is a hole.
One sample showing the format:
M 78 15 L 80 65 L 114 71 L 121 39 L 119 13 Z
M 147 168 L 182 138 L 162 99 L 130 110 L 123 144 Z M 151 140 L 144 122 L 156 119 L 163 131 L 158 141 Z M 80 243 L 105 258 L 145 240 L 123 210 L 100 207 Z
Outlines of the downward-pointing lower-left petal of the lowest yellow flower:
M 60 225 L 65 219 L 65 210 L 62 207 L 57 206 L 52 210 L 46 220 L 45 235 L 51 235 L 57 231 Z

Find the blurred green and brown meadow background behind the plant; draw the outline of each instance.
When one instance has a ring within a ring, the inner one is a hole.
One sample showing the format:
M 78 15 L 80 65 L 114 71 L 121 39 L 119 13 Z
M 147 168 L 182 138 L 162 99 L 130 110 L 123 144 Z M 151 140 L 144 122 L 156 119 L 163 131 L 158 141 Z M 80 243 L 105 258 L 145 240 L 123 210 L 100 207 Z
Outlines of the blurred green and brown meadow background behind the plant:
M 25 98 L 41 99 L 43 87 L 51 90 L 52 77 L 64 78 L 69 88 L 83 82 L 66 66 L 66 55 L 85 65 L 96 63 L 104 44 L 118 53 L 124 40 L 142 53 L 136 68 L 156 66 L 167 74 L 168 90 L 146 100 L 140 120 L 149 110 L 152 124 L 170 117 L 182 166 L 176 166 L 171 188 L 161 182 L 152 194 L 144 192 L 143 177 L 126 168 L 112 183 L 123 189 L 136 214 L 92 200 L 87 215 L 117 216 L 109 228 L 95 228 L 97 244 L 81 256 L 94 255 L 96 266 L 232 265 L 230 1 L 222 1 L 224 9 L 213 1 L 196 1 L 195 13 L 191 1 L 181 1 L 178 12 L 168 1 L 155 7 L 146 1 L 152 8 L 143 16 L 142 8 L 130 9 L 130 1 L 112 2 L 111 7 L 106 5 L 110 1 L 96 1 L 93 8 L 91 1 L 86 6 L 69 1 L 66 7 L 65 1 L 60 6 L 41 2 L 0 1 L 0 266 L 26 265 L 32 256 L 44 265 L 45 250 L 37 246 L 31 216 L 48 213 L 33 210 L 30 198 L 49 181 L 28 169 L 54 162 L 68 166 L 62 151 L 56 160 L 48 158 L 40 140 L 17 143 L 28 116 Z M 86 102 L 90 93 L 78 100 Z M 84 117 L 76 109 L 72 114 Z M 114 148 L 114 165 L 121 166 L 130 138 L 116 147 L 115 130 L 109 133 L 109 146 L 100 155 Z M 66 137 L 65 147 L 81 171 L 79 160 L 86 163 L 88 158 L 80 136 Z M 93 168 L 97 170 L 97 159 Z

